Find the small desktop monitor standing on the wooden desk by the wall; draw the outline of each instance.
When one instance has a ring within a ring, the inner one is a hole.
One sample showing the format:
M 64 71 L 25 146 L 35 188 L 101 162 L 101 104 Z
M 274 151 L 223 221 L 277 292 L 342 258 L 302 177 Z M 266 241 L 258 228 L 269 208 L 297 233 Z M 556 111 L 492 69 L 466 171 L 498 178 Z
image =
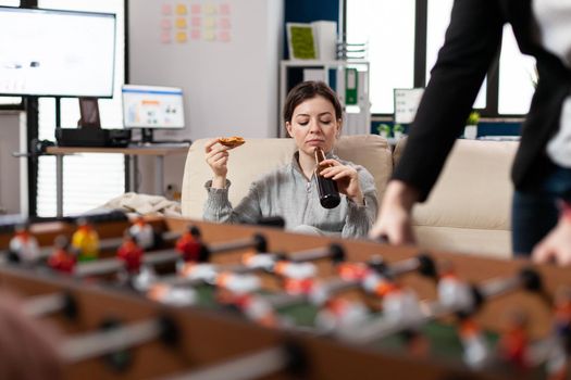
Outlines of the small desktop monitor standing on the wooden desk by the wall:
M 124 85 L 121 92 L 123 125 L 125 128 L 141 128 L 144 142 L 152 142 L 154 129 L 185 127 L 182 88 Z

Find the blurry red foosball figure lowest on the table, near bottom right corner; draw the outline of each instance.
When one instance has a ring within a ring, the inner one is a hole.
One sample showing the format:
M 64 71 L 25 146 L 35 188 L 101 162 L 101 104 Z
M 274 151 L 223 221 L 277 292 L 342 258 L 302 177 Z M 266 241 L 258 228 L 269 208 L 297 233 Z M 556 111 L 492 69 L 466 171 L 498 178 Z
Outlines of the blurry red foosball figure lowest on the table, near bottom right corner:
M 499 341 L 501 358 L 518 368 L 527 368 L 529 345 L 527 316 L 522 311 L 512 311 L 508 315 L 508 326 Z

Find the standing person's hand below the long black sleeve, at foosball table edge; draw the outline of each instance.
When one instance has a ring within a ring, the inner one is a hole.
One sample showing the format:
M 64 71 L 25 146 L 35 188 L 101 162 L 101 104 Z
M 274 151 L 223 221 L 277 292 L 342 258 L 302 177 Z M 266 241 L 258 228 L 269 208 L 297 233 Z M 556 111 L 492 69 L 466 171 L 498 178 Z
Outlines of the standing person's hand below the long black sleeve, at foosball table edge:
M 386 188 L 381 213 L 369 232 L 371 239 L 386 239 L 390 244 L 413 244 L 412 206 L 419 199 L 418 191 L 399 180 L 392 180 Z

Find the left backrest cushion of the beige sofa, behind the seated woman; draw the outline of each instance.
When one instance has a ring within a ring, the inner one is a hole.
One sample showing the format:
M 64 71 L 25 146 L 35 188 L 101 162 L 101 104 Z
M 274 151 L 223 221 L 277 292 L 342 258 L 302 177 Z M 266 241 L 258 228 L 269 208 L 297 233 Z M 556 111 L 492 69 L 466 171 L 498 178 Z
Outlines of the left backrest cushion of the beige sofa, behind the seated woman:
M 204 160 L 204 144 L 209 139 L 197 140 L 190 145 L 183 177 L 183 216 L 201 219 L 207 200 L 204 182 L 212 172 Z M 231 152 L 228 179 L 232 186 L 228 198 L 236 205 L 248 192 L 250 183 L 260 175 L 291 161 L 296 151 L 293 139 L 246 139 L 246 143 Z M 335 154 L 364 166 L 374 177 L 378 199 L 393 174 L 393 157 L 386 139 L 377 135 L 344 136 L 335 147 Z

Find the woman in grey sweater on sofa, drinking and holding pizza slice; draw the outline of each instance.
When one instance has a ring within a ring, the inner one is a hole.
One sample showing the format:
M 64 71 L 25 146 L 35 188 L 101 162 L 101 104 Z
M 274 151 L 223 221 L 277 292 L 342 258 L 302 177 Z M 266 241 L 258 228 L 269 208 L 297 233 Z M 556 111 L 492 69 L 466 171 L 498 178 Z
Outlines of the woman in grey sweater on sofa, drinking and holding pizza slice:
M 252 182 L 248 194 L 234 208 L 228 201 L 231 182 L 226 179 L 229 148 L 222 145 L 220 139 L 207 143 L 206 160 L 213 179 L 206 183 L 204 220 L 253 224 L 263 217 L 282 216 L 286 228 L 298 232 L 365 237 L 376 217 L 376 189 L 364 167 L 333 153 L 343 121 L 335 92 L 320 81 L 296 86 L 287 96 L 284 121 L 298 149 L 291 163 Z M 314 178 L 316 148 L 325 152 L 327 160 L 322 164 L 332 165 L 321 175 L 335 180 L 339 193 L 345 195 L 335 208 L 320 204 Z

